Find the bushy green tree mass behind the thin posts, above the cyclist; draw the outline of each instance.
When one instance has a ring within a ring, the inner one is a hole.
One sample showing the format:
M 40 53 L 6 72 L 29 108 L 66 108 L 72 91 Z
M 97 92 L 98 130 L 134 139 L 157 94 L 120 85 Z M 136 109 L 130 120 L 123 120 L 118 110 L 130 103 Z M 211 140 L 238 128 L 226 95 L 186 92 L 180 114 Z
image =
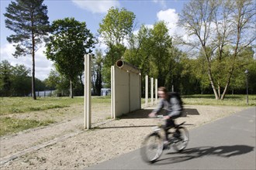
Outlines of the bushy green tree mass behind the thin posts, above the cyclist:
M 157 78 L 158 86 L 171 90 L 180 90 L 182 83 L 182 52 L 172 45 L 168 27 L 164 22 L 156 22 L 153 29 L 141 26 L 137 35 L 130 40 L 130 49 L 126 50 L 124 59 L 137 66 L 144 77 Z M 144 88 L 144 87 L 142 87 Z M 144 92 L 144 89 L 141 90 Z M 143 93 L 144 96 L 144 93 Z

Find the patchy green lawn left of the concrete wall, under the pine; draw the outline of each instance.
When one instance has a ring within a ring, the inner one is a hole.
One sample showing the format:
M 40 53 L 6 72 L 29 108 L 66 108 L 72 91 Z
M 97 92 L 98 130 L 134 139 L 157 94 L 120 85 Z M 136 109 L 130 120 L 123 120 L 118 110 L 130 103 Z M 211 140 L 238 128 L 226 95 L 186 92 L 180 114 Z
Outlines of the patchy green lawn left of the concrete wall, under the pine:
M 92 97 L 93 104 L 110 104 L 110 97 Z M 0 98 L 0 136 L 24 131 L 29 128 L 47 126 L 55 123 L 51 120 L 36 121 L 29 119 L 13 118 L 12 114 L 34 114 L 36 111 L 51 110 L 56 108 L 70 107 L 71 104 L 84 104 L 83 97 L 1 97 Z M 47 113 L 47 112 L 46 112 Z M 56 113 L 59 116 L 61 112 Z M 53 116 L 54 116 L 53 115 Z

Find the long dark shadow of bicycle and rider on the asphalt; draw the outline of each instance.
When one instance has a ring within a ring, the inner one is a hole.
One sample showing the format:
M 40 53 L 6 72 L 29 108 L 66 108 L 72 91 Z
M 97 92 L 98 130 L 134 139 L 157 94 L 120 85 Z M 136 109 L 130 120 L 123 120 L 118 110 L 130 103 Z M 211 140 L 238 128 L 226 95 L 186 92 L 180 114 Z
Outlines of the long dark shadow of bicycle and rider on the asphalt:
M 251 151 L 254 151 L 254 147 L 248 145 L 189 148 L 179 153 L 166 153 L 167 155 L 170 155 L 170 157 L 159 159 L 157 162 L 155 162 L 154 165 L 166 165 L 185 162 L 190 159 L 200 158 L 203 156 L 220 156 L 223 158 L 230 158 L 232 156 L 243 155 Z

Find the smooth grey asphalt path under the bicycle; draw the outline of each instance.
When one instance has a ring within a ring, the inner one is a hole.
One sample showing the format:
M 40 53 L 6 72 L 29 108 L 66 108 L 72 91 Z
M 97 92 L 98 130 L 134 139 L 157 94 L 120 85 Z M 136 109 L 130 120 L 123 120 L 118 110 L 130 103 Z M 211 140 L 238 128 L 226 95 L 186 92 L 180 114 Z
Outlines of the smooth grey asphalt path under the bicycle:
M 158 162 L 147 164 L 140 150 L 86 169 L 256 169 L 256 107 L 192 129 L 182 153 L 164 151 Z

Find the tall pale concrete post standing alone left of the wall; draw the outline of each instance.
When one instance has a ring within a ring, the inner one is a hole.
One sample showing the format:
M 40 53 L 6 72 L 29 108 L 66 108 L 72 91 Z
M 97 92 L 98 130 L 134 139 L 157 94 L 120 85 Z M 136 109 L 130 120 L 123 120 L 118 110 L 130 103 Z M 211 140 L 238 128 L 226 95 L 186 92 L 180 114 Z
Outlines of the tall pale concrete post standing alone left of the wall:
M 91 128 L 91 79 L 92 79 L 92 54 L 85 55 L 85 98 L 84 98 L 84 128 Z

